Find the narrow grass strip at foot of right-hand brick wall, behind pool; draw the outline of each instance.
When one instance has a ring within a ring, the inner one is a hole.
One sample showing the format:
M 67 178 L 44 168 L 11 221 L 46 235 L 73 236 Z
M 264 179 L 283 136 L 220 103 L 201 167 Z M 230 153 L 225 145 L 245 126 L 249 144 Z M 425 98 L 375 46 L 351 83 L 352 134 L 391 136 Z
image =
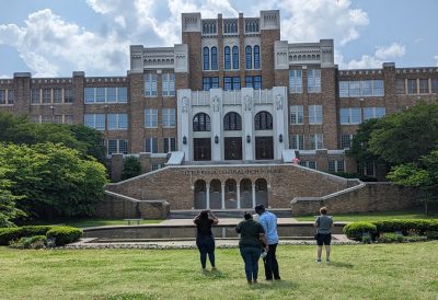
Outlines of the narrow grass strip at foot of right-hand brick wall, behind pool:
M 330 211 L 328 211 L 330 215 Z M 298 221 L 314 221 L 314 216 L 295 217 Z M 425 215 L 424 210 L 397 210 L 367 214 L 345 214 L 334 215 L 335 221 L 357 222 L 357 221 L 380 221 L 389 219 L 438 219 L 438 215 Z

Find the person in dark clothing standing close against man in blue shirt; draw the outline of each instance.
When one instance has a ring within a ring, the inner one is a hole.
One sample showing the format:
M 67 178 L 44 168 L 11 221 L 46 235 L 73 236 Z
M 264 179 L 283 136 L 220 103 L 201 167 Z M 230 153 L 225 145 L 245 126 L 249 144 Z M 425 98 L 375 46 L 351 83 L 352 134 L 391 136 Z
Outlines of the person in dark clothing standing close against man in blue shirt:
M 245 212 L 244 220 L 237 227 L 235 231 L 240 233 L 239 249 L 245 263 L 245 274 L 247 284 L 256 284 L 258 276 L 258 258 L 262 254 L 263 244 L 267 245 L 265 230 L 253 220 L 251 214 Z M 262 244 L 263 243 L 263 244 Z M 265 251 L 268 247 L 265 246 Z

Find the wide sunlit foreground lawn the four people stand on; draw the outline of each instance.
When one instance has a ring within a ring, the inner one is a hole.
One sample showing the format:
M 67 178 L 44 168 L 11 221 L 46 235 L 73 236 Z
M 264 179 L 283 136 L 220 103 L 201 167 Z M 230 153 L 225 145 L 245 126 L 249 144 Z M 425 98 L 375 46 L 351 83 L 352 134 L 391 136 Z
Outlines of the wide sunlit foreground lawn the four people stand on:
M 201 274 L 196 250 L 0 247 L 1 299 L 437 299 L 438 241 L 279 246 L 281 281 L 249 286 L 238 249 L 217 250 L 217 273 Z M 261 266 L 263 272 L 263 266 Z

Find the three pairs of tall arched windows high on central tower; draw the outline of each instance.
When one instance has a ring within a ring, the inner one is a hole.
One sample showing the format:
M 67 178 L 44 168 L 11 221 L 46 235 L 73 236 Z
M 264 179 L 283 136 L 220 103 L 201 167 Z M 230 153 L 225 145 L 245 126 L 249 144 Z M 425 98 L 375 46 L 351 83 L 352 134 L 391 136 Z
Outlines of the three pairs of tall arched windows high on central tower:
M 224 70 L 239 70 L 239 47 L 226 46 L 223 48 L 223 69 Z M 204 71 L 218 70 L 218 47 L 212 46 L 203 48 L 203 68 Z M 261 68 L 260 46 L 245 47 L 245 68 L 246 70 L 258 70 Z

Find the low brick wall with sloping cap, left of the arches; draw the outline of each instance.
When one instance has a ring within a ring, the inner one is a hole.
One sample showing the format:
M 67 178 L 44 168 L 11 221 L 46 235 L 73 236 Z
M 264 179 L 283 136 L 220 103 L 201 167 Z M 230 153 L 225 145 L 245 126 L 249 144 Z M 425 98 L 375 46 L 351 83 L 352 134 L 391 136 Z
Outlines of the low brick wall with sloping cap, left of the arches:
M 108 191 L 96 209 L 96 217 L 112 219 L 166 219 L 169 214 L 165 200 L 138 200 Z

